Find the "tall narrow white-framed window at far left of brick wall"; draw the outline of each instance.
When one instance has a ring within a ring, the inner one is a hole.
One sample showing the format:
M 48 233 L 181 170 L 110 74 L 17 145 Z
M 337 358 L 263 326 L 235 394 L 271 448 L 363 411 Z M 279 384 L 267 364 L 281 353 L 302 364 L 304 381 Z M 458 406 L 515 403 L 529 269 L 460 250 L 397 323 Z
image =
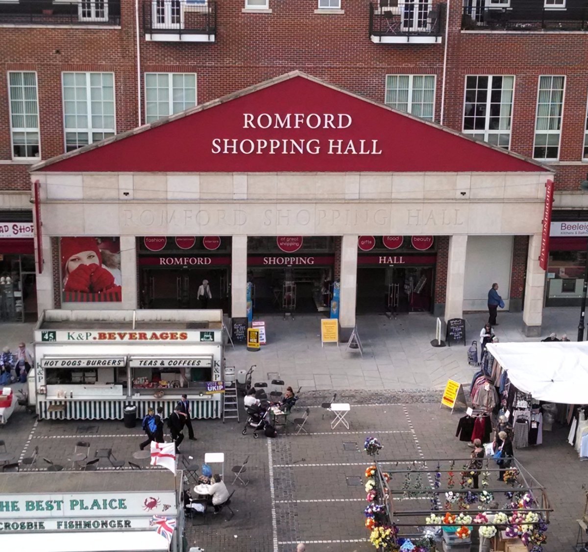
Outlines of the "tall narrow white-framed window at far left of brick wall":
M 39 102 L 36 73 L 8 72 L 13 159 L 39 158 Z

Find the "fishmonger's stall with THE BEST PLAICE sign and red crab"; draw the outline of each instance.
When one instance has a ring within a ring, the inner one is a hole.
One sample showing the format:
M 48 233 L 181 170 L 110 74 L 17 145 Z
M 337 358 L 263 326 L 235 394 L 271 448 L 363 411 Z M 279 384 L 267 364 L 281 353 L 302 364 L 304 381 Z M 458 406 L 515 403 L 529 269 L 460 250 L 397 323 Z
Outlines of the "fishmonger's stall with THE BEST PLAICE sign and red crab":
M 180 552 L 181 497 L 164 469 L 0 474 L 0 549 Z

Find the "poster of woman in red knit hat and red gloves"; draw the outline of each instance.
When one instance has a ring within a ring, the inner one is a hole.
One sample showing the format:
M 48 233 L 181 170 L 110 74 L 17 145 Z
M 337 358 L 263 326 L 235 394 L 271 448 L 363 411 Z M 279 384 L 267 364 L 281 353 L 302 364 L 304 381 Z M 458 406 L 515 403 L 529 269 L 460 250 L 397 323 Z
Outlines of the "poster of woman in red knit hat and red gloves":
M 61 278 L 64 302 L 121 301 L 119 238 L 61 238 Z

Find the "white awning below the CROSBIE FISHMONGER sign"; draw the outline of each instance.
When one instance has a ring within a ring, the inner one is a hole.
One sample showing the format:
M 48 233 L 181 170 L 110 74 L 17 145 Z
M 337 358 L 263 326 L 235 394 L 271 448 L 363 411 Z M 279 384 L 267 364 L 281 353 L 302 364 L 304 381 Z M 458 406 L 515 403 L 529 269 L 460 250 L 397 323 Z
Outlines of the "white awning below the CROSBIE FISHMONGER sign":
M 88 533 L 6 533 L 0 534 L 2 550 L 43 550 L 44 552 L 139 552 L 169 550 L 168 540 L 155 530 L 92 531 Z

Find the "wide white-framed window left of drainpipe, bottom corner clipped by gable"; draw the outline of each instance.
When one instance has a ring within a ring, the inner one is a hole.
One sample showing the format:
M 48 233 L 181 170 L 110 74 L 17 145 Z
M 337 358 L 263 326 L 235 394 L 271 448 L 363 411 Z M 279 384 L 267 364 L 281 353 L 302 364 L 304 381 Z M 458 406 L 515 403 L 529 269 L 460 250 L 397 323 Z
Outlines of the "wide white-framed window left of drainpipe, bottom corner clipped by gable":
M 63 74 L 65 151 L 116 133 L 114 74 Z

